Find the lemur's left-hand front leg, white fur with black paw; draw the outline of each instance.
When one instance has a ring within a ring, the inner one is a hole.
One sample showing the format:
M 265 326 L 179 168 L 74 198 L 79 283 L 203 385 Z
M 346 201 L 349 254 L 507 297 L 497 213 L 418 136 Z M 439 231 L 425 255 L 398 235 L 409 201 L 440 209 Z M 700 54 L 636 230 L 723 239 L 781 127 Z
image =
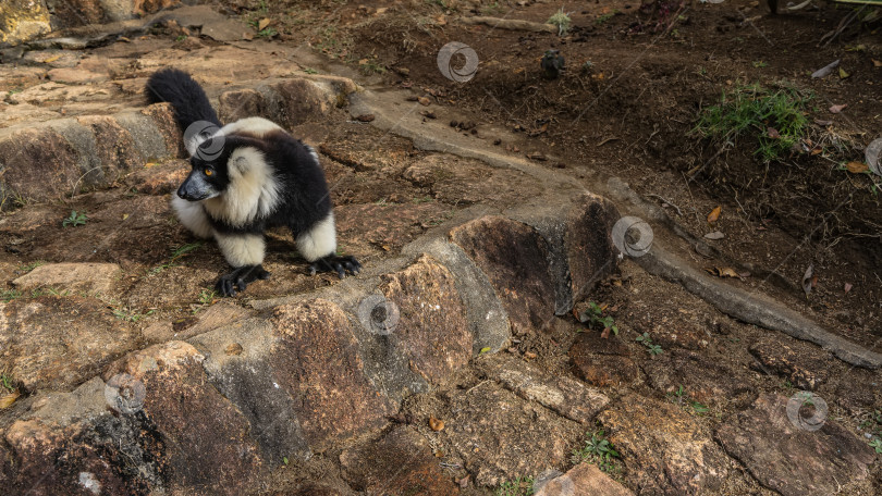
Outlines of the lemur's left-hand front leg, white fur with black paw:
M 264 236 L 258 234 L 215 233 L 215 239 L 223 257 L 233 265 L 233 272 L 218 280 L 217 289 L 222 296 L 236 296 L 236 290 L 257 280 L 268 280 L 270 273 L 264 270 Z

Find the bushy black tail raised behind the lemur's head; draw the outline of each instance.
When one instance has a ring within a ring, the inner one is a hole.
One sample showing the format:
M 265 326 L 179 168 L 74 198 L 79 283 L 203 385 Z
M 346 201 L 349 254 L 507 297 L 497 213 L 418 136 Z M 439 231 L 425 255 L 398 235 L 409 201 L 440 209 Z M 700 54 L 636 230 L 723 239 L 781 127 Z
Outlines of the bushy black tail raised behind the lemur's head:
M 162 69 L 155 72 L 147 79 L 144 95 L 150 103 L 171 103 L 181 131 L 186 131 L 196 121 L 208 121 L 221 126 L 205 90 L 184 71 Z

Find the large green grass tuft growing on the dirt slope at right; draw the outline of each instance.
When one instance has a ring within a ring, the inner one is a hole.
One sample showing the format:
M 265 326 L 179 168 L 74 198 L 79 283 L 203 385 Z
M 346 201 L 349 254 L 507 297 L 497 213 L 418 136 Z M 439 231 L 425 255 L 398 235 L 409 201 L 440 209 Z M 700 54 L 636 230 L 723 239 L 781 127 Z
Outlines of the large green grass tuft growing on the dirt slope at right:
M 813 98 L 810 91 L 787 85 L 740 86 L 724 91 L 720 103 L 702 109 L 693 132 L 723 149 L 750 137 L 757 141 L 754 154 L 763 162 L 781 160 L 805 137 L 809 128 L 806 110 Z

